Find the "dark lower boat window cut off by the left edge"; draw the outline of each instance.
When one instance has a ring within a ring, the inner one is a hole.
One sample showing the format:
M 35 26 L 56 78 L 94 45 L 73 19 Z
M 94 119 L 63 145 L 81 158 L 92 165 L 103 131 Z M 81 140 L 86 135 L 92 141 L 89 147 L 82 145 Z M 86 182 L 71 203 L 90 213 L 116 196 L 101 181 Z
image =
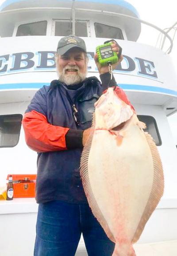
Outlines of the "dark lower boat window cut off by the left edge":
M 0 115 L 0 147 L 14 147 L 19 142 L 23 116 L 21 114 Z

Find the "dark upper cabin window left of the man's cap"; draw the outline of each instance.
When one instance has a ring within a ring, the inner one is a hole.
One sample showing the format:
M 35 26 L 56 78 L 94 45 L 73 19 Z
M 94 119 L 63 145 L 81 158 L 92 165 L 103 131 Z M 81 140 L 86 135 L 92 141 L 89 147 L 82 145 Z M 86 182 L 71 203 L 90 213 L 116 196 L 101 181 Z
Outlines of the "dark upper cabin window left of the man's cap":
M 47 21 L 38 21 L 19 25 L 16 36 L 46 35 Z

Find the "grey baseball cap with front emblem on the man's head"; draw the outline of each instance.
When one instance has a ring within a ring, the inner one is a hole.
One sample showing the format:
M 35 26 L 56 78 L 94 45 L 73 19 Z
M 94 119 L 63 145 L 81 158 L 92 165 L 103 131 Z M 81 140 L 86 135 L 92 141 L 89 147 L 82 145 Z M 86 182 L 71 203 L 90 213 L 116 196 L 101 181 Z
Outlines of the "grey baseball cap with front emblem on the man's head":
M 86 52 L 84 40 L 75 35 L 67 35 L 65 37 L 62 37 L 62 39 L 60 39 L 60 41 L 58 42 L 57 52 L 60 55 L 63 55 L 66 53 L 66 51 L 69 51 L 73 47 L 80 48 L 81 50 Z

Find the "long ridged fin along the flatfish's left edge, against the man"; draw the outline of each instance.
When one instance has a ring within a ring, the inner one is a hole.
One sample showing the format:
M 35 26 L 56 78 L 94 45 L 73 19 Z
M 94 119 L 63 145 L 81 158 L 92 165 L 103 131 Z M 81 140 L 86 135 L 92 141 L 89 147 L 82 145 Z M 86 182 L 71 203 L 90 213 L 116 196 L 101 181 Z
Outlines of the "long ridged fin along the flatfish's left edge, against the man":
M 95 113 L 93 113 L 93 119 L 92 119 L 92 128 L 91 133 L 89 135 L 89 138 L 82 150 L 81 154 L 81 165 L 80 165 L 80 173 L 81 173 L 81 179 L 82 184 L 84 187 L 85 195 L 87 197 L 87 200 L 89 202 L 89 206 L 92 209 L 93 215 L 96 217 L 97 221 L 100 223 L 102 228 L 104 229 L 105 233 L 109 237 L 110 240 L 115 242 L 115 238 L 112 235 L 112 232 L 107 224 L 107 221 L 104 219 L 103 214 L 100 211 L 100 208 L 96 202 L 96 199 L 93 195 L 92 188 L 89 182 L 89 172 L 88 172 L 88 160 L 89 160 L 89 152 L 92 145 L 92 138 L 94 134 L 94 128 L 95 128 Z

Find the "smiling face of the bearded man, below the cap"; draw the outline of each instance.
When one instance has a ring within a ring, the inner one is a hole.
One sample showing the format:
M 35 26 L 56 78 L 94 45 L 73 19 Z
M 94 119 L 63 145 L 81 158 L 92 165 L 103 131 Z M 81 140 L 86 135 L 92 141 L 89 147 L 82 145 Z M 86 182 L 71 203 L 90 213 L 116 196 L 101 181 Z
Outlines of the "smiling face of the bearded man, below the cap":
M 87 60 L 79 49 L 71 49 L 58 57 L 58 74 L 60 81 L 73 85 L 81 83 L 87 75 Z

